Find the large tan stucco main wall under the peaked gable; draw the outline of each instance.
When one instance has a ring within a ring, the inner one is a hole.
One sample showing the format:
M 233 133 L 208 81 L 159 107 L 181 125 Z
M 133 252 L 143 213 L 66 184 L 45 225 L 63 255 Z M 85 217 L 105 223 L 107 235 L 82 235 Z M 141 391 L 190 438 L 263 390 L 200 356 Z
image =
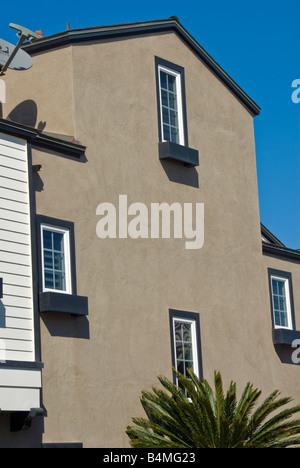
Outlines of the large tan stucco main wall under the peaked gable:
M 196 169 L 158 159 L 155 55 L 185 68 Z M 64 60 L 60 80 L 38 77 Z M 45 130 L 87 146 L 81 161 L 33 150 L 42 164 L 37 213 L 74 221 L 78 294 L 89 297 L 87 318 L 41 317 L 44 442 L 128 445 L 126 425 L 143 414 L 140 390 L 158 373 L 171 377 L 169 308 L 200 314 L 205 378 L 217 369 L 241 390 L 250 380 L 300 400 L 297 368 L 283 365 L 272 344 L 248 111 L 173 33 L 36 55 L 26 73 L 28 83 L 38 80 L 25 98 L 37 103 Z M 97 205 L 117 207 L 119 194 L 148 207 L 204 203 L 203 248 L 186 250 L 184 239 L 100 240 Z

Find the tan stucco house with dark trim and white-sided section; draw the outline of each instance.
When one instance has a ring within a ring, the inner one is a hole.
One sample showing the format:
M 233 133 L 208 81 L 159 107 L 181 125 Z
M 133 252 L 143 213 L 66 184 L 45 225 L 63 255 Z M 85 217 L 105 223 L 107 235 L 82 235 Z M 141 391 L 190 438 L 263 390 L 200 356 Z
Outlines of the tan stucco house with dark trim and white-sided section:
M 175 17 L 24 50 L 0 121 L 0 443 L 127 447 L 172 364 L 299 401 L 300 253 L 260 223 L 257 104 Z

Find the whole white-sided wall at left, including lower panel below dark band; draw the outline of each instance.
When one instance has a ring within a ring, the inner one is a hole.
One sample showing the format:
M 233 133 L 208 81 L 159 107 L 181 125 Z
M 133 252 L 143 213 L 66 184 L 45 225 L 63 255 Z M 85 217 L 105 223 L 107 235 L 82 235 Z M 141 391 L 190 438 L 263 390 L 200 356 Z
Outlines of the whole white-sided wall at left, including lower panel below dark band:
M 27 143 L 1 133 L 0 278 L 0 409 L 30 410 L 40 406 L 41 370 L 24 365 L 35 360 Z

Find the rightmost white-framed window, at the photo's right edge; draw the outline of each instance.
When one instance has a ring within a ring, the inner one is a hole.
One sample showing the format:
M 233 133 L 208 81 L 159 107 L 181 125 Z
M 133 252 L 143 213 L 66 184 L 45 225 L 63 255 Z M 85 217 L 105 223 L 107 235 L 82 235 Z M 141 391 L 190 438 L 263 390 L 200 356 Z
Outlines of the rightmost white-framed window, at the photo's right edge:
M 291 274 L 269 269 L 269 284 L 274 328 L 295 328 Z

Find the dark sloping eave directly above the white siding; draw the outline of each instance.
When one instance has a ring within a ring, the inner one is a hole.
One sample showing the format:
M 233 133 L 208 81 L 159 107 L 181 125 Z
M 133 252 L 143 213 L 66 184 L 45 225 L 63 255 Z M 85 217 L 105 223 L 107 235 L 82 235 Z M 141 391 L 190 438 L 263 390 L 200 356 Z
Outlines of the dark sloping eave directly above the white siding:
M 9 120 L 0 119 L 0 132 L 23 138 L 39 148 L 58 151 L 68 156 L 80 158 L 85 153 L 86 147 L 78 142 L 64 140 L 43 134 L 40 130 L 26 125 L 17 124 Z

